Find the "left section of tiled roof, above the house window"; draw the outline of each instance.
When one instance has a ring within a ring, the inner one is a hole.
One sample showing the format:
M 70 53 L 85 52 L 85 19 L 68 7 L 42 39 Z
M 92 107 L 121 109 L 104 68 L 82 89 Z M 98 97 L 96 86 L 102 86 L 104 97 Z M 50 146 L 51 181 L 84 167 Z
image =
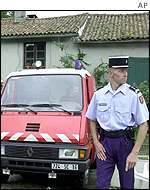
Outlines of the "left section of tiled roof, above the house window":
M 14 22 L 14 19 L 3 18 L 1 20 L 1 36 L 44 36 L 51 34 L 78 33 L 79 28 L 84 24 L 87 17 L 88 14 L 41 19 L 26 18 L 21 22 Z

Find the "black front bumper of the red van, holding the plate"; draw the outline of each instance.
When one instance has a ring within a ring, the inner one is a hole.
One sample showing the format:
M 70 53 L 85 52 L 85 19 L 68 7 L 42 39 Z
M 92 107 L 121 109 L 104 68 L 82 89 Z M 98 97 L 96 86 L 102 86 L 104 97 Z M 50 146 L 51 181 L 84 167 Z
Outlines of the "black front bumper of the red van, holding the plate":
M 60 164 L 63 166 L 77 166 L 68 168 L 52 168 L 52 163 Z M 26 159 L 26 158 L 13 158 L 13 157 L 1 157 L 1 168 L 9 169 L 11 173 L 41 173 L 48 174 L 51 172 L 58 175 L 79 175 L 84 174 L 89 169 L 90 160 L 72 161 L 72 160 L 43 160 L 43 159 Z

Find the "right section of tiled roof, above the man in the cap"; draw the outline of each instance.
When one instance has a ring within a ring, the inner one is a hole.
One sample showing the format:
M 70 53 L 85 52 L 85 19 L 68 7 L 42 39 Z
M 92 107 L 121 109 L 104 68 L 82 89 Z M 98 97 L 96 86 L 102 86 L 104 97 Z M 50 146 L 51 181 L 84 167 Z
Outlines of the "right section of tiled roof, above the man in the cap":
M 149 38 L 149 14 L 90 15 L 81 41 L 120 41 Z

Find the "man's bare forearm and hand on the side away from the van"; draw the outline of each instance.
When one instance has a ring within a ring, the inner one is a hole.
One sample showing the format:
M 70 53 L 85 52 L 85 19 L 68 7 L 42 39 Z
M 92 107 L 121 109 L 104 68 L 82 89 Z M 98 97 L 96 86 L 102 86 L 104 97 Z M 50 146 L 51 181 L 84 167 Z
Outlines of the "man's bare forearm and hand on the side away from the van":
M 147 130 L 148 130 L 147 122 L 144 122 L 141 125 L 139 125 L 139 130 L 138 130 L 135 145 L 126 160 L 126 168 L 125 168 L 126 171 L 128 171 L 130 168 L 133 168 L 135 166 L 137 162 L 137 156 L 138 156 L 141 146 L 144 143 Z

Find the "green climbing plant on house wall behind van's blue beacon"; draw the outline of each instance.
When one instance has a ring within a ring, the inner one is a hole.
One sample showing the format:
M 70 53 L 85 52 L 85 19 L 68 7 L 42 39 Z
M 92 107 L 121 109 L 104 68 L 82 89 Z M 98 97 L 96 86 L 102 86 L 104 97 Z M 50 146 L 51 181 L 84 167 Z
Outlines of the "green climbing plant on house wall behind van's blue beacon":
M 89 65 L 87 62 L 84 61 L 84 57 L 86 56 L 86 54 L 80 48 L 78 49 L 77 54 L 73 55 L 73 54 L 70 54 L 67 52 L 63 43 L 56 43 L 56 45 L 64 53 L 64 55 L 61 56 L 61 58 L 60 58 L 60 62 L 64 68 L 74 68 L 73 62 L 77 59 L 82 61 L 84 68 L 85 68 L 85 65 L 86 66 Z

